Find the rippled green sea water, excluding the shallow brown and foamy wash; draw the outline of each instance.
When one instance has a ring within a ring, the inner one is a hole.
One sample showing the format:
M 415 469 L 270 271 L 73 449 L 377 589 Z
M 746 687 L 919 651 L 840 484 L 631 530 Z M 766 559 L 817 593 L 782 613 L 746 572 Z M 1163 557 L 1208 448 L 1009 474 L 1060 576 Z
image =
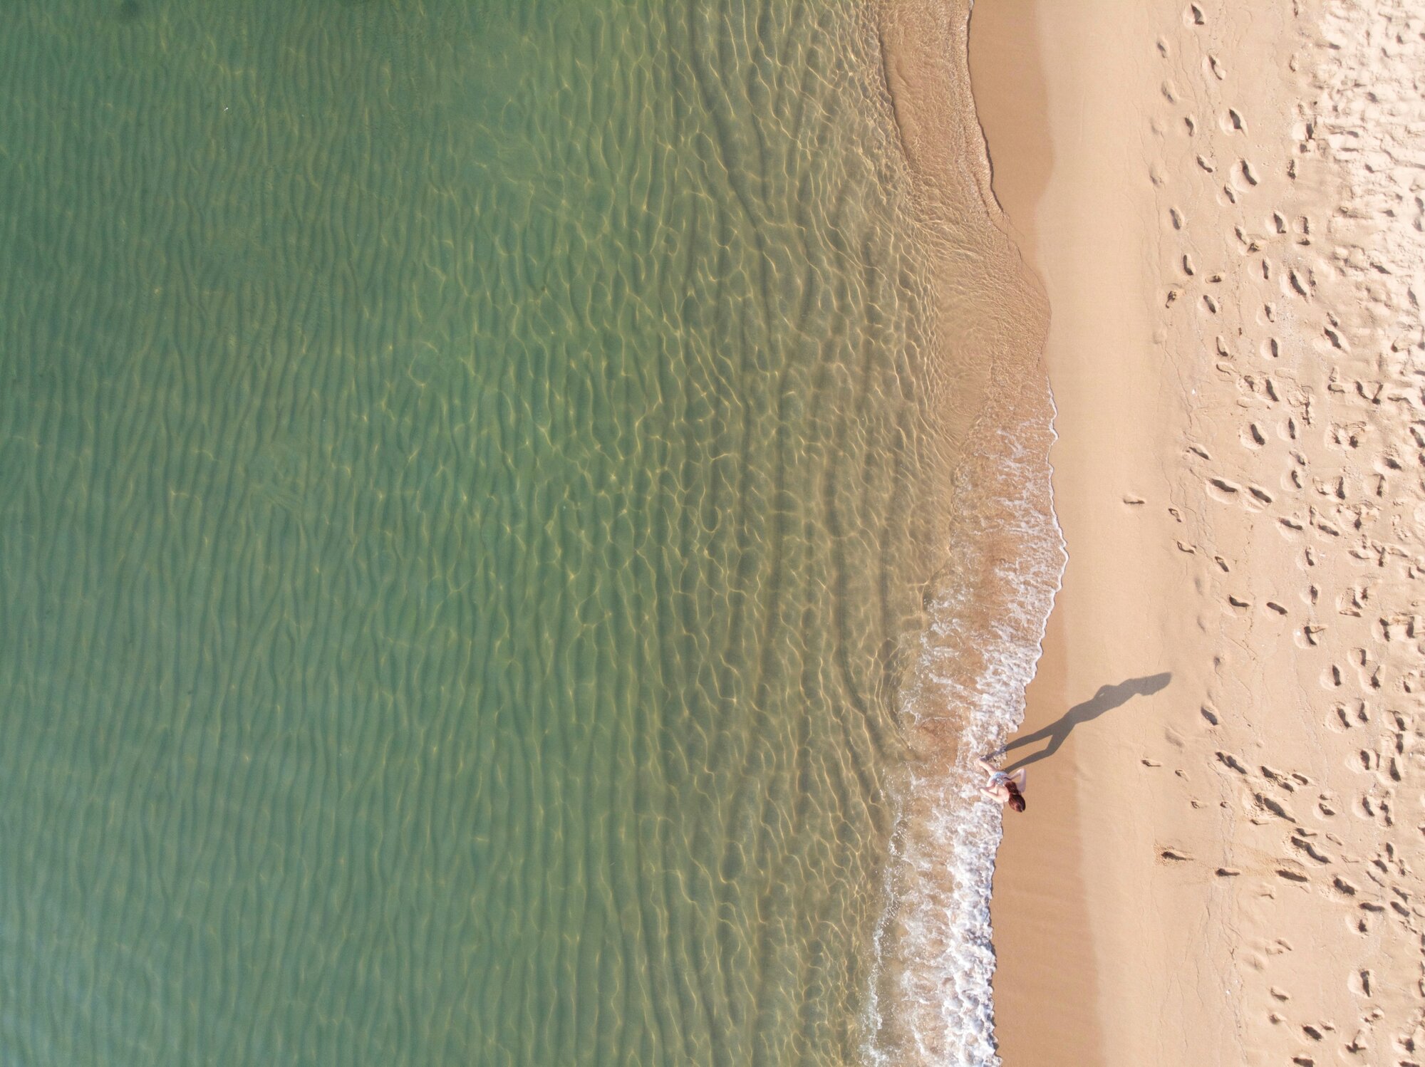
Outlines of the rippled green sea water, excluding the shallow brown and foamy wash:
M 858 1061 L 943 473 L 849 0 L 17 0 L 0 1063 Z

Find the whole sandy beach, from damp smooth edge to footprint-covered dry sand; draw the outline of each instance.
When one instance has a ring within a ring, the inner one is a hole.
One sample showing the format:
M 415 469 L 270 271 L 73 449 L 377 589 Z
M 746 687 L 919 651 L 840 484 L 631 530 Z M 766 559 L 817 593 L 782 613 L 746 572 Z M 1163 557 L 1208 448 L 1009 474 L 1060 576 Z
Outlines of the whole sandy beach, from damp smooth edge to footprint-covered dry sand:
M 1425 11 L 979 0 L 970 64 L 1070 554 L 1000 1056 L 1425 1063 Z

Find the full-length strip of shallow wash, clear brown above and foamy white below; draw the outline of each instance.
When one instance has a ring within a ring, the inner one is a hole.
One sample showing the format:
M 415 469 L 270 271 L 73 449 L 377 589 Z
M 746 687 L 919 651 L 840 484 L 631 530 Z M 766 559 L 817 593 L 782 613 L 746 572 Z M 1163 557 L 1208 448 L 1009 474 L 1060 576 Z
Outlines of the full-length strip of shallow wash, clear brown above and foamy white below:
M 946 551 L 922 588 L 926 625 L 905 650 L 896 695 L 909 759 L 875 936 L 868 1054 L 878 1063 L 993 1060 L 1000 821 L 965 751 L 998 744 L 1017 714 L 1063 568 L 1049 501 L 1046 309 L 990 189 L 965 77 L 969 13 L 966 0 L 912 0 L 879 9 L 875 27 L 906 218 L 926 256 L 938 362 L 925 387 L 932 409 L 968 416 L 955 420 L 963 436 L 948 439 Z

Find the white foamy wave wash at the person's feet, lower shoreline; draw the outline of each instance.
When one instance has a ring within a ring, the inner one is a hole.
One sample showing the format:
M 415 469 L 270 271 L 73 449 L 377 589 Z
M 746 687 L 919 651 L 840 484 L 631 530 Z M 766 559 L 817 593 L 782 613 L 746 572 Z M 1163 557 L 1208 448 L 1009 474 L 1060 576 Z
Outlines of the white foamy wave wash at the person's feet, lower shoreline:
M 866 1020 L 875 1064 L 1000 1063 L 989 912 L 1000 808 L 979 792 L 973 759 L 1023 718 L 1066 558 L 1043 389 L 1045 417 L 986 433 L 958 479 L 956 497 L 975 506 L 956 517 L 952 566 L 902 697 L 908 729 L 929 741 L 898 798 Z

